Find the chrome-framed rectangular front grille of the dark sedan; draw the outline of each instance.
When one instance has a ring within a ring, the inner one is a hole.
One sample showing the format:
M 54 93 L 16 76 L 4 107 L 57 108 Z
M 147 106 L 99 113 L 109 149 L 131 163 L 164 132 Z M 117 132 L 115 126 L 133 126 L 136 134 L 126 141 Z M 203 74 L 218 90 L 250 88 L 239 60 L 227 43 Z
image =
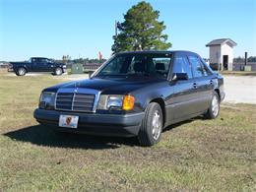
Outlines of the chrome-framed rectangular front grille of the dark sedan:
M 58 93 L 56 110 L 93 112 L 96 95 L 77 93 Z

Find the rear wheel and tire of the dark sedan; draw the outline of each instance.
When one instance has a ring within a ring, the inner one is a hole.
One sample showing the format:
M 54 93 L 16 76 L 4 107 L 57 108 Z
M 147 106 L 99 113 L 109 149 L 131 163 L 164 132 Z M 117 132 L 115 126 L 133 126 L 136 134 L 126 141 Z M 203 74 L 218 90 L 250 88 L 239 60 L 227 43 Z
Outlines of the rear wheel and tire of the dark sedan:
M 208 108 L 204 116 L 207 119 L 216 119 L 219 116 L 219 113 L 220 113 L 220 96 L 216 92 L 214 92 L 210 107 Z

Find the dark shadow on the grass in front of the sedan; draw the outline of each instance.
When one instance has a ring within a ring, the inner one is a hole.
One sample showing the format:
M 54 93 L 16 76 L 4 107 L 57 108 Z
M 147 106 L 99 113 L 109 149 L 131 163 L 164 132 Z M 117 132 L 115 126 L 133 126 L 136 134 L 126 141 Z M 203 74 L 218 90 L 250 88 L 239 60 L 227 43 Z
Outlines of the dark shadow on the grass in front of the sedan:
M 52 127 L 34 125 L 4 134 L 15 141 L 29 142 L 38 146 L 71 149 L 116 149 L 122 145 L 138 146 L 136 138 L 90 136 L 57 132 Z

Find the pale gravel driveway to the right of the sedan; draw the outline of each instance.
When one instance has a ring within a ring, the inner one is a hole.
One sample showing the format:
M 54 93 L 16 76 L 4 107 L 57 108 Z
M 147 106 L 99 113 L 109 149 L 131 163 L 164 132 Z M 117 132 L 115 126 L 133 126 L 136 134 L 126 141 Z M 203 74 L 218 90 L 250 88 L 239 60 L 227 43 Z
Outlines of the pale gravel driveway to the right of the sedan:
M 256 104 L 255 76 L 224 76 L 224 102 Z

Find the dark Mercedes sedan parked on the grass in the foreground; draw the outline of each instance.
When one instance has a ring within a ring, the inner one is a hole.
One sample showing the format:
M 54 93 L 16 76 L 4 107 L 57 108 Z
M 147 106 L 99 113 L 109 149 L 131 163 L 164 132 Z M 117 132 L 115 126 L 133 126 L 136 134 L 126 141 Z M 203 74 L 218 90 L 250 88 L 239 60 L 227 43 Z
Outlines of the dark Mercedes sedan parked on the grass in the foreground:
M 198 115 L 215 119 L 224 79 L 189 51 L 114 55 L 87 80 L 44 89 L 34 118 L 65 132 L 137 136 L 142 146 Z

